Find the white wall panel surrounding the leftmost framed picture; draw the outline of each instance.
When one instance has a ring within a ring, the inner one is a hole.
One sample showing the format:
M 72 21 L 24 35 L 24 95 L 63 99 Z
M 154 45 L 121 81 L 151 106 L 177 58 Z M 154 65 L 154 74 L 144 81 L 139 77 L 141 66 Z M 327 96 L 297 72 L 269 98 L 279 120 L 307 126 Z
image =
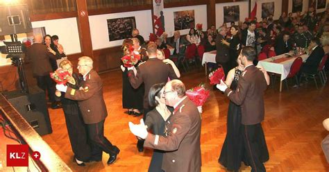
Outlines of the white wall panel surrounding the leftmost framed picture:
M 90 34 L 92 36 L 92 49 L 106 49 L 112 46 L 119 46 L 123 40 L 108 40 L 108 21 L 107 19 L 116 19 L 120 17 L 135 17 L 136 27 L 140 31 L 140 35 L 145 40 L 149 40 L 152 31 L 151 10 L 119 12 L 106 15 L 89 16 Z

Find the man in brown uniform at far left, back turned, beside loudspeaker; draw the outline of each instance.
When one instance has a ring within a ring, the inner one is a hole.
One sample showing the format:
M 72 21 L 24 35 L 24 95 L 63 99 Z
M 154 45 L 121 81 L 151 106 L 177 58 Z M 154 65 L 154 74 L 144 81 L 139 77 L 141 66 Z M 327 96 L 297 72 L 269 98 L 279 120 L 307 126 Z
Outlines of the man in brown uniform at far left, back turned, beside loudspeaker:
M 50 78 L 51 64 L 49 59 L 57 60 L 56 52 L 52 49 L 47 49 L 47 46 L 42 44 L 42 36 L 35 35 L 34 44 L 29 46 L 26 53 L 27 61 L 32 63 L 33 77 L 37 79 L 37 87 L 40 87 L 44 92 L 48 92 L 51 108 L 57 109 L 61 105 L 55 100 L 55 83 Z

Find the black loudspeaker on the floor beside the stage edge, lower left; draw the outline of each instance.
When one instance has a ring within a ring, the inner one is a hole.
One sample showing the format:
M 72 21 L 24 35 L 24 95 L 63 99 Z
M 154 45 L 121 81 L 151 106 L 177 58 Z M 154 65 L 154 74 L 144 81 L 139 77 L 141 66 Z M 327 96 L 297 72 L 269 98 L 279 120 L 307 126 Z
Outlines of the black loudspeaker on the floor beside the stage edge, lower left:
M 35 129 L 39 135 L 53 132 L 49 119 L 46 95 L 39 87 L 30 87 L 29 93 L 22 91 L 3 92 L 3 96 L 12 104 L 19 114 Z

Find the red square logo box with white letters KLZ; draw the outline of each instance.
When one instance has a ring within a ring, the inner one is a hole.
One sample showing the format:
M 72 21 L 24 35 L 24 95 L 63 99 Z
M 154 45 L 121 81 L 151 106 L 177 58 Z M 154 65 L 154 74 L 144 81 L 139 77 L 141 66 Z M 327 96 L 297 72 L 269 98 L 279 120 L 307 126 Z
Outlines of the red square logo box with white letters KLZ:
M 28 166 L 28 145 L 7 145 L 7 166 Z

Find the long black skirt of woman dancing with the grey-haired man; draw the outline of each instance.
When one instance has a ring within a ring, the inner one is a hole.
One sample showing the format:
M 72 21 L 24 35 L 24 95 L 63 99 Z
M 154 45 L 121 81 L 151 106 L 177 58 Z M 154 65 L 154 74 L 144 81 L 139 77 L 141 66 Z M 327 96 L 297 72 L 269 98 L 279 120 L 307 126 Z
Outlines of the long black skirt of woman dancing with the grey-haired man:
M 62 104 L 65 114 L 67 132 L 69 133 L 69 142 L 76 159 L 86 162 L 90 159 L 91 148 L 87 140 L 86 125 L 83 122 L 78 103 Z

